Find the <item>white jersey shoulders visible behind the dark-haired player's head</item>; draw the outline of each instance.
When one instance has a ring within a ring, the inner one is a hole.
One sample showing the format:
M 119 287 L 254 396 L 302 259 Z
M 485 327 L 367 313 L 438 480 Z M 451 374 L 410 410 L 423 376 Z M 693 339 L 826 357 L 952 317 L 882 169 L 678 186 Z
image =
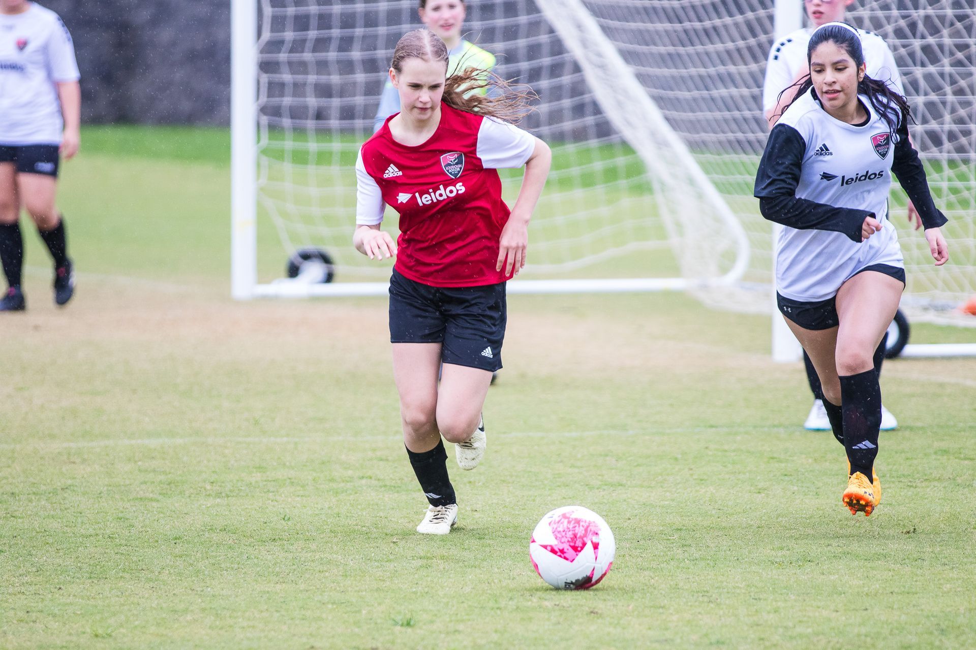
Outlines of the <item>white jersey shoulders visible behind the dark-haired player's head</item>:
M 873 31 L 858 29 L 861 48 L 864 51 L 865 72 L 872 79 L 883 81 L 905 95 L 902 76 L 891 55 L 888 44 Z M 762 110 L 776 106 L 780 93 L 793 84 L 799 71 L 806 67 L 806 47 L 810 44 L 812 28 L 797 29 L 769 49 L 766 59 L 766 78 L 762 83 Z

